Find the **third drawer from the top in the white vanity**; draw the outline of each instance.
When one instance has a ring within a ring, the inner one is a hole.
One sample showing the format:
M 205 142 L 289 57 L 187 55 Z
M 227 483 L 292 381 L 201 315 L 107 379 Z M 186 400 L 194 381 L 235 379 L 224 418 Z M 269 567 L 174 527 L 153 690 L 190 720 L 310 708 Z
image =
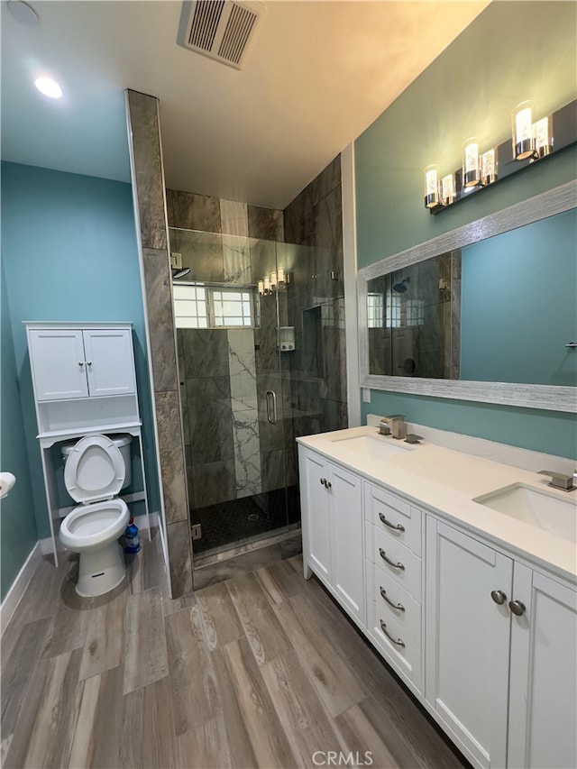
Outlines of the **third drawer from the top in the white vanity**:
M 384 572 L 380 565 L 368 564 L 368 600 L 376 604 L 380 617 L 395 622 L 402 629 L 406 641 L 420 646 L 421 604 L 418 603 L 393 577 Z

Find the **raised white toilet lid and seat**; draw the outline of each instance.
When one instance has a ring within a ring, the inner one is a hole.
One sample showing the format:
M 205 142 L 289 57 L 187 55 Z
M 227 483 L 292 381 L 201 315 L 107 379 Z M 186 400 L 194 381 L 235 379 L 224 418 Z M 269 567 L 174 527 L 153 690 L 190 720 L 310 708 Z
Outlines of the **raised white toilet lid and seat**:
M 87 504 L 114 497 L 124 483 L 124 459 L 106 435 L 87 435 L 72 449 L 64 467 L 70 497 Z

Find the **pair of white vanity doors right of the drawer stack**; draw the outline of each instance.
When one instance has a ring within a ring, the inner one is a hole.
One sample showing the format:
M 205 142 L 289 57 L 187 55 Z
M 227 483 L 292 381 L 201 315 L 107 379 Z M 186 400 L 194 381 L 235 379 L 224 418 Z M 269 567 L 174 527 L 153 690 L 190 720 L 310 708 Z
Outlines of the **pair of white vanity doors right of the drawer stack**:
M 480 766 L 577 765 L 575 590 L 426 522 L 426 701 Z

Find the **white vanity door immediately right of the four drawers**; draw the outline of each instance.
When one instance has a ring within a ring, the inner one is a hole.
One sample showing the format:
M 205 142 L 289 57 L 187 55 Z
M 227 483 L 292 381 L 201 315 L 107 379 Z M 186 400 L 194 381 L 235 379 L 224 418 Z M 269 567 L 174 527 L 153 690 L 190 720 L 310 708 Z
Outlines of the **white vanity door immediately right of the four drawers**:
M 426 700 L 473 764 L 504 766 L 513 565 L 435 518 L 426 521 Z M 507 600 L 491 599 L 501 590 Z

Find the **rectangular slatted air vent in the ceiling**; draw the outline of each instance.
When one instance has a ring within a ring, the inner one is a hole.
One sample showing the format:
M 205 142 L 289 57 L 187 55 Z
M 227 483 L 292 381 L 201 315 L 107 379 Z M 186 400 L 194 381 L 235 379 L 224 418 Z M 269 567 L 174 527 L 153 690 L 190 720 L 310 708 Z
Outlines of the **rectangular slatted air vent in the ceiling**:
M 183 5 L 179 44 L 241 69 L 254 40 L 262 6 L 239 0 L 192 0 Z

